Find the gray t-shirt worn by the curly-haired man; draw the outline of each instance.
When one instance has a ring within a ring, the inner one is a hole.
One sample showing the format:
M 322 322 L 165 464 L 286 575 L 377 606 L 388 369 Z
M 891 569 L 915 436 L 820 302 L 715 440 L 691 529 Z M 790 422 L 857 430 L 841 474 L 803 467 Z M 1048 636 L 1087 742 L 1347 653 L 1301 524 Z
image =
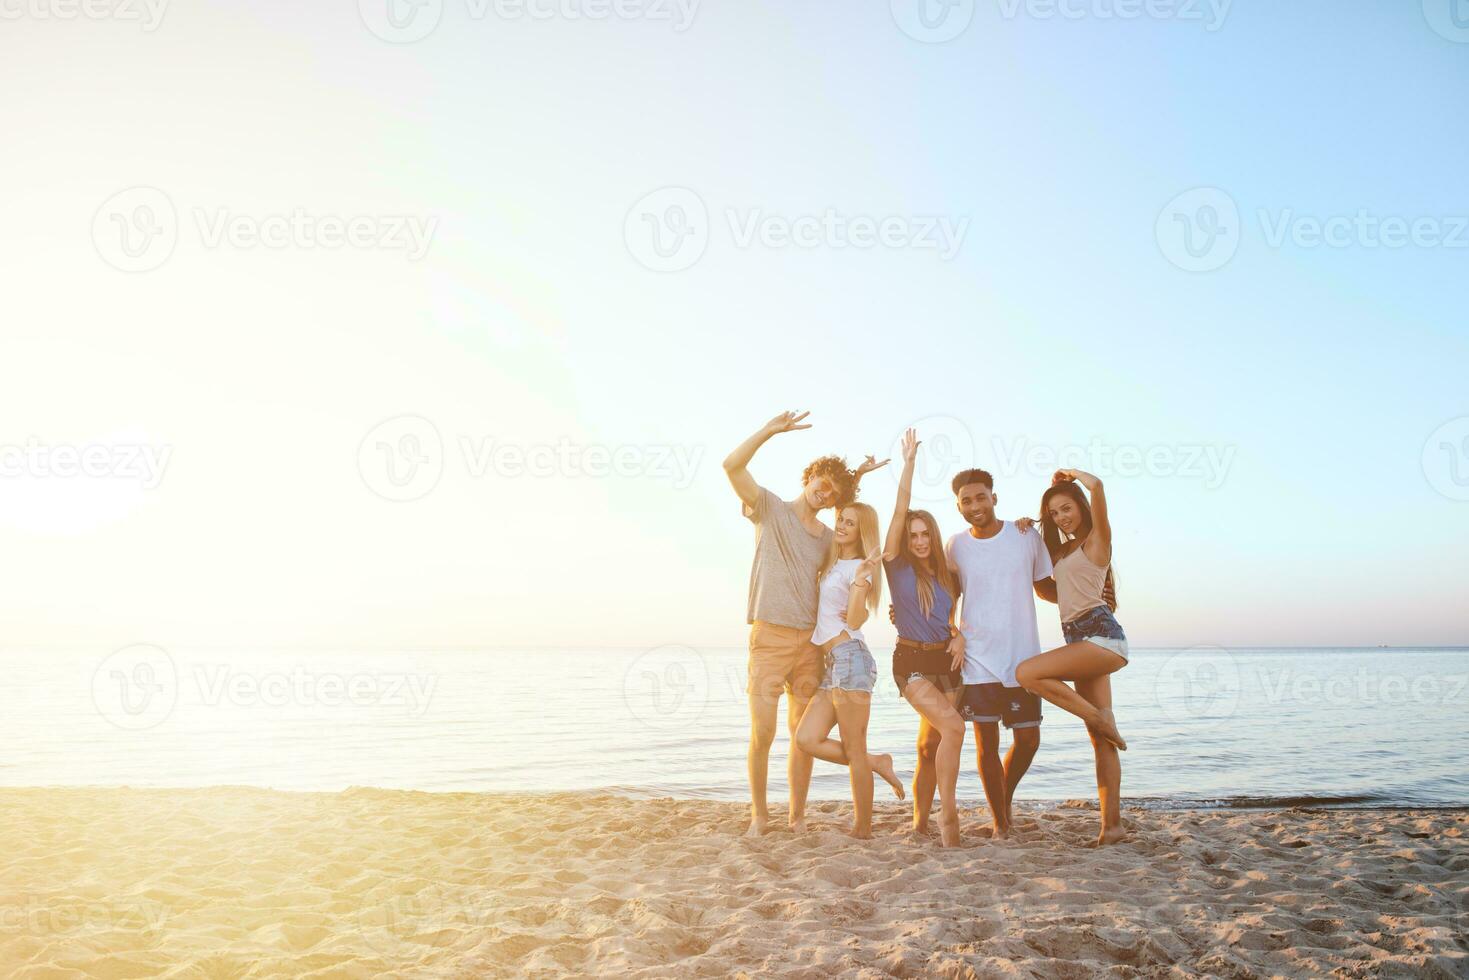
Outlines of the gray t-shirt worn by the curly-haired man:
M 814 536 L 796 508 L 764 486 L 754 507 L 743 513 L 755 525 L 755 564 L 749 570 L 746 621 L 792 629 L 817 624 L 817 570 L 831 547 L 831 529 Z

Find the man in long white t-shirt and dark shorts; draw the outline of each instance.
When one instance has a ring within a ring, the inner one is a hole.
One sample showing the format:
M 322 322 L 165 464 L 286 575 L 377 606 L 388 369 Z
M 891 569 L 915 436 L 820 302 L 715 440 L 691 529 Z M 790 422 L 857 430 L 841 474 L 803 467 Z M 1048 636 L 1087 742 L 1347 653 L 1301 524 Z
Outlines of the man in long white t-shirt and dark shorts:
M 1056 601 L 1050 555 L 1040 535 L 995 517 L 995 479 L 984 470 L 953 478 L 955 502 L 970 529 L 945 548 L 964 592 L 964 717 L 980 743 L 980 782 L 995 836 L 1011 829 L 1011 799 L 1040 746 L 1040 698 L 1021 688 L 1015 669 L 1040 652 L 1039 595 Z M 1012 733 L 1000 763 L 999 723 Z

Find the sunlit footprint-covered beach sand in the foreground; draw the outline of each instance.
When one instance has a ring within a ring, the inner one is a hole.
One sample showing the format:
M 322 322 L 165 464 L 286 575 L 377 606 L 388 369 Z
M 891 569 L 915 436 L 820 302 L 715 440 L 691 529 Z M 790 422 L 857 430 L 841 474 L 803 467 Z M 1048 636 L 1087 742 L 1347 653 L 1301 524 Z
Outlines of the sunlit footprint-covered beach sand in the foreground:
M 1469 814 L 0 790 L 0 976 L 1465 977 Z

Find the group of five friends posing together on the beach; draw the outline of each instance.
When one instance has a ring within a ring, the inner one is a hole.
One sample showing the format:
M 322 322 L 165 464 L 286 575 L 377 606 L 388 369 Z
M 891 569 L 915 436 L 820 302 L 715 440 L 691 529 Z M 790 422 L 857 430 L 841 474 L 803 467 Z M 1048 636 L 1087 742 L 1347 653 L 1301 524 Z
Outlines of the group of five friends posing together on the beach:
M 814 760 L 851 774 L 851 835 L 873 836 L 873 788 L 881 777 L 899 799 L 903 785 L 889 754 L 870 751 L 867 724 L 877 661 L 862 624 L 881 607 L 883 577 L 898 627 L 892 670 L 918 713 L 914 830 L 928 833 L 939 795 L 939 837 L 959 845 L 956 785 L 967 724 L 978 742 L 980 783 L 993 837 L 1014 824 L 1015 788 L 1040 746 L 1042 699 L 1087 726 L 1096 754 L 1102 813 L 1099 845 L 1125 835 L 1121 817 L 1127 743 L 1112 714 L 1111 674 L 1127 666 L 1127 636 L 1116 621 L 1112 526 L 1102 480 L 1056 470 L 1042 495 L 1040 520 L 1000 520 L 995 479 L 980 469 L 953 476 L 955 505 L 968 527 L 946 542 L 927 510 L 911 510 L 918 433 L 903 435 L 903 470 L 892 523 L 883 536 L 877 511 L 858 502 L 862 476 L 887 466 L 873 457 L 855 470 L 836 455 L 806 466 L 801 494 L 783 500 L 755 482 L 749 463 L 773 436 L 809 429 L 809 413 L 782 413 L 724 460 L 724 472 L 755 525 L 749 580 L 749 789 L 751 835 L 770 830 L 765 782 L 780 695 L 792 745 L 790 829 L 805 830 Z M 834 508 L 834 529 L 820 513 Z M 883 574 L 878 574 L 881 569 Z M 1055 602 L 1065 645 L 1040 649 L 1036 604 Z M 999 726 L 1011 730 L 1000 758 Z M 831 738 L 836 727 L 837 738 Z

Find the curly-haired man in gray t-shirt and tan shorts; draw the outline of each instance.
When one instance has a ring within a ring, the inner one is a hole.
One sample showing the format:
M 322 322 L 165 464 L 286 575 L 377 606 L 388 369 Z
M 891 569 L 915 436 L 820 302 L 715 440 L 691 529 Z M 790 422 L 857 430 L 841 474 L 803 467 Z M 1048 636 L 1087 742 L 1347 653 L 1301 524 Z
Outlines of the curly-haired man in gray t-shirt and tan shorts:
M 809 429 L 801 425 L 809 413 L 784 411 L 749 436 L 724 460 L 724 473 L 743 502 L 745 517 L 755 525 L 755 561 L 749 572 L 749 833 L 765 833 L 770 810 L 765 780 L 770 746 L 776 741 L 776 716 L 784 689 L 786 724 L 790 729 L 790 827 L 805 829 L 806 790 L 811 788 L 811 757 L 796 748 L 796 726 L 806 704 L 821 685 L 821 649 L 811 642 L 817 623 L 817 572 L 831 529 L 817 514 L 856 497 L 856 483 L 883 463 L 867 457 L 852 472 L 846 461 L 824 455 L 802 475 L 801 497 L 780 500 L 759 486 L 745 469 L 773 435 Z

